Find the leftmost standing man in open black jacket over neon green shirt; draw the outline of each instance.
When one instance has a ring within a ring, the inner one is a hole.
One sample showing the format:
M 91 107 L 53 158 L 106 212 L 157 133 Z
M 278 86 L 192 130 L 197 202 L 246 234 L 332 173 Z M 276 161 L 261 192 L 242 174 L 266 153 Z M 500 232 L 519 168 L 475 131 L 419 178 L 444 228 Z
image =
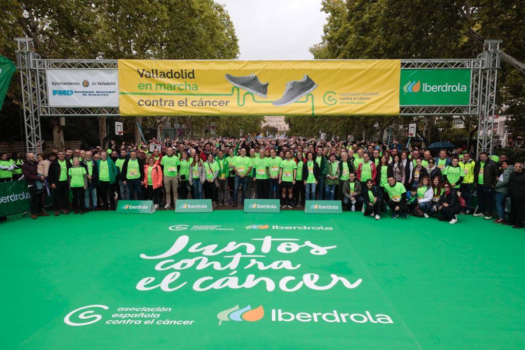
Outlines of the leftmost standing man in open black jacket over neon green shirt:
M 62 213 L 69 214 L 69 184 L 67 180 L 68 169 L 71 168 L 71 162 L 66 160 L 66 153 L 58 151 L 57 159 L 51 162 L 49 166 L 48 182 L 53 189 L 53 207 L 55 216 L 58 217 L 60 210 Z

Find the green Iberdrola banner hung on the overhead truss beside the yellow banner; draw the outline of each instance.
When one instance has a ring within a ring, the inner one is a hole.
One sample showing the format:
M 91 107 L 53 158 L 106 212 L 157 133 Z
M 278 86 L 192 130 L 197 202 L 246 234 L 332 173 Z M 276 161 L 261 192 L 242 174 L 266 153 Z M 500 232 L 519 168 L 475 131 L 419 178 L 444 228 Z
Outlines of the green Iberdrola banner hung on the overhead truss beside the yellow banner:
M 468 106 L 470 69 L 402 69 L 401 106 Z

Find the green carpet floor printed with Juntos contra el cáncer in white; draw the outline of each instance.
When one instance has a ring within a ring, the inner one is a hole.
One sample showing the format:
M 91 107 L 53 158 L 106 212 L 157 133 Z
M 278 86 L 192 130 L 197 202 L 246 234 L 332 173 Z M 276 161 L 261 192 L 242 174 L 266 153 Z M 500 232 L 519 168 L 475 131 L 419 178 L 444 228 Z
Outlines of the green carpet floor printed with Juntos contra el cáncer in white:
M 525 348 L 525 230 L 482 218 L 97 212 L 0 229 L 4 349 Z

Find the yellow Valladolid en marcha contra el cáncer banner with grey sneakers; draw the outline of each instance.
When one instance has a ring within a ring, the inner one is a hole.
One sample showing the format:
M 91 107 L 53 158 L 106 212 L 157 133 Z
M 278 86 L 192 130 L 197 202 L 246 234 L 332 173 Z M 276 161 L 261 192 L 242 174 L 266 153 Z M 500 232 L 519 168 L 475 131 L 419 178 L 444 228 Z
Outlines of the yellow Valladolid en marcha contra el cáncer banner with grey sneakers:
M 119 59 L 120 114 L 396 115 L 401 61 Z

